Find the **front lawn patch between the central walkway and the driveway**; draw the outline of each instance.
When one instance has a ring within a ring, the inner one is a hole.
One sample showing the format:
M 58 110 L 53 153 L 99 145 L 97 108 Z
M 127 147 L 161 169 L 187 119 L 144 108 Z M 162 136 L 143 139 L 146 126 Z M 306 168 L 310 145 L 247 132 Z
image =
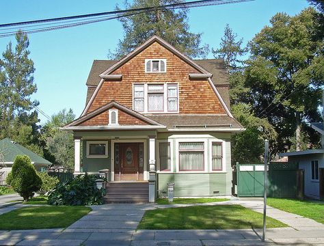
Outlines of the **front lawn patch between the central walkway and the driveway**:
M 262 217 L 239 205 L 190 206 L 147 210 L 137 229 L 205 230 L 262 228 Z M 267 217 L 267 228 L 286 224 Z

